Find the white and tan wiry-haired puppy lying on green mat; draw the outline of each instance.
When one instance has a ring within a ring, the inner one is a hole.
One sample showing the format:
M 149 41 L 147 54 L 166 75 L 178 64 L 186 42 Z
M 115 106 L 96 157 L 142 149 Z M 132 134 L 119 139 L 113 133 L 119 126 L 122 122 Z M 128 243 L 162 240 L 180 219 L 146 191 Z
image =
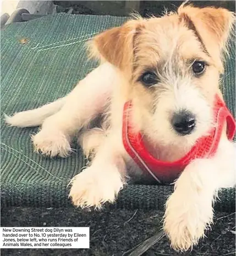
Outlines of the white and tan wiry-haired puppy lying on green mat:
M 67 157 L 78 136 L 92 161 L 70 182 L 73 204 L 113 203 L 130 175 L 145 175 L 124 146 L 124 105 L 131 102 L 131 132 L 141 134 L 153 157 L 173 162 L 185 156 L 215 126 L 212 109 L 215 95 L 222 99 L 219 78 L 233 25 L 227 9 L 186 3 L 162 17 L 131 19 L 91 40 L 90 57 L 100 66 L 72 92 L 6 116 L 6 122 L 41 125 L 32 142 L 51 157 Z M 94 126 L 98 116 L 100 124 Z M 175 250 L 193 248 L 204 237 L 218 189 L 235 184 L 235 146 L 225 120 L 222 129 L 213 156 L 190 161 L 174 180 L 163 228 Z

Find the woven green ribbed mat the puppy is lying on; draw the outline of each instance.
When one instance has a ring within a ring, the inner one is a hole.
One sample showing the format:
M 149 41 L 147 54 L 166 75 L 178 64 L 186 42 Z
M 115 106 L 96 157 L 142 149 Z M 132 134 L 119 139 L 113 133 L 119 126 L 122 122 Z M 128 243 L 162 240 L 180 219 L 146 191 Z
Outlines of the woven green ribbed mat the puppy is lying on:
M 87 61 L 84 43 L 126 18 L 48 15 L 10 24 L 1 31 L 1 114 L 32 109 L 70 92 L 96 64 Z M 224 97 L 235 113 L 235 45 L 224 76 Z M 81 95 L 83 97 L 83 95 Z M 79 100 L 79 99 L 78 99 Z M 37 128 L 7 127 L 1 118 L 1 205 L 69 206 L 67 184 L 85 160 L 79 146 L 68 158 L 34 153 L 30 134 Z M 163 209 L 172 186 L 129 185 L 110 207 Z M 216 209 L 235 210 L 235 190 L 219 193 Z

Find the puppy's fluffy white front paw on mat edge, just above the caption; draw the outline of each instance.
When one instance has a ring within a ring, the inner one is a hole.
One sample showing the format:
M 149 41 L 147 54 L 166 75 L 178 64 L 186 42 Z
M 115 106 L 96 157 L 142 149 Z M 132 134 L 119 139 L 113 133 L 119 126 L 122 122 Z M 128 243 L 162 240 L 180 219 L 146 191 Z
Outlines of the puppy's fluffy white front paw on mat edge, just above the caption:
M 115 166 L 96 169 L 93 166 L 88 167 L 77 174 L 70 185 L 72 187 L 69 197 L 75 206 L 82 208 L 100 208 L 105 202 L 114 202 L 120 189 L 123 188 L 122 178 Z

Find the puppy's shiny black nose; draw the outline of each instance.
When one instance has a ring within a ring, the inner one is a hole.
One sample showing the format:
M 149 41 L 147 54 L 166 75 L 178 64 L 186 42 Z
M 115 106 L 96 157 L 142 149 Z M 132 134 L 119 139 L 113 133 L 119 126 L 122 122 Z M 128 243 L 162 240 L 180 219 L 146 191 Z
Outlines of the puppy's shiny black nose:
M 175 131 L 180 135 L 191 134 L 196 125 L 195 116 L 189 111 L 182 110 L 179 113 L 175 113 L 171 120 L 172 126 Z

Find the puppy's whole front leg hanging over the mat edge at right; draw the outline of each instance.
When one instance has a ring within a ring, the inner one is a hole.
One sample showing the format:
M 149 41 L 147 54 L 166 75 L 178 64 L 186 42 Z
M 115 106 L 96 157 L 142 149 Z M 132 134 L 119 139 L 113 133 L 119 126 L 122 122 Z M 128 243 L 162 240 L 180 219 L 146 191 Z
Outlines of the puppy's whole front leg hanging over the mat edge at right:
M 235 147 L 221 140 L 215 156 L 196 159 L 185 168 L 169 197 L 164 230 L 176 250 L 196 244 L 213 221 L 213 201 L 217 190 L 235 184 Z

